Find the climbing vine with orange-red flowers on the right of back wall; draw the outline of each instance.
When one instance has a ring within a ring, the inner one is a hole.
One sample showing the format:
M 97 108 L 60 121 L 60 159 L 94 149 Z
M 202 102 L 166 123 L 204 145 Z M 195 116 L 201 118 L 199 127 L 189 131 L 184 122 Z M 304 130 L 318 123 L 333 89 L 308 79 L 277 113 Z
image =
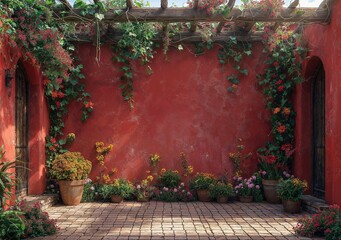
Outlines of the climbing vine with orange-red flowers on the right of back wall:
M 293 32 L 267 29 L 266 33 L 268 58 L 264 73 L 259 75 L 259 84 L 263 87 L 266 107 L 271 111 L 273 141 L 258 152 L 267 164 L 285 170 L 291 166 L 295 140 L 296 112 L 291 96 L 296 84 L 303 80 L 301 70 L 306 48 L 298 44 L 299 35 Z

